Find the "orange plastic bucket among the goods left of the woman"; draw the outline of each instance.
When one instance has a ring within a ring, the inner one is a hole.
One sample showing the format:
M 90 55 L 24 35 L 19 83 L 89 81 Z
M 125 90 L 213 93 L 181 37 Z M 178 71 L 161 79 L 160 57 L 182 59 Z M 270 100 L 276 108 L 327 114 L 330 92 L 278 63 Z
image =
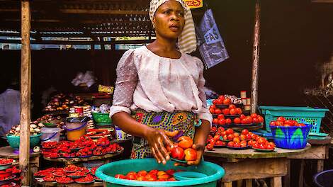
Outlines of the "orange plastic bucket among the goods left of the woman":
M 75 141 L 86 134 L 86 124 L 88 118 L 68 118 L 64 130 L 67 131 L 67 140 Z

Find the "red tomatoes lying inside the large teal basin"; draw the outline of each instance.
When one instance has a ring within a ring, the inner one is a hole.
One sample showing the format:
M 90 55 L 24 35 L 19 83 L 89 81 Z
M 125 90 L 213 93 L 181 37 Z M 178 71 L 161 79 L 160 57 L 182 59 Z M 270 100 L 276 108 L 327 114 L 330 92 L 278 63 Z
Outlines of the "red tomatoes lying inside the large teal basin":
M 181 170 L 177 170 L 181 171 Z M 127 179 L 127 180 L 136 180 L 136 181 L 176 181 L 174 179 L 174 173 L 176 170 L 169 169 L 166 171 L 159 171 L 153 169 L 151 171 L 130 171 L 128 174 L 116 174 L 115 178 L 117 179 Z

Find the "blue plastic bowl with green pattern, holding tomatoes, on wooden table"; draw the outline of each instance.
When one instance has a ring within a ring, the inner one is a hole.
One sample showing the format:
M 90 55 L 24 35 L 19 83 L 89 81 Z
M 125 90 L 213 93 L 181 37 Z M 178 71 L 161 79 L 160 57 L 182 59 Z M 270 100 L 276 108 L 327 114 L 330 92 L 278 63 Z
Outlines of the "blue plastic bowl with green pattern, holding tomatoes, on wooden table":
M 284 149 L 303 149 L 307 144 L 311 125 L 305 127 L 271 126 L 276 147 Z

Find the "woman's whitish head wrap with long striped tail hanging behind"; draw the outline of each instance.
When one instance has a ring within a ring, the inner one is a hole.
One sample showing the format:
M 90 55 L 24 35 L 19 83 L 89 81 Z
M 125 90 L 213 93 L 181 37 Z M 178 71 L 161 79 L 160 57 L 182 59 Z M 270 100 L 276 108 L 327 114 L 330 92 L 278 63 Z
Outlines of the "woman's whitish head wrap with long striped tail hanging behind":
M 164 4 L 166 1 L 169 1 L 169 0 L 150 1 L 149 18 L 151 21 L 154 18 L 154 14 L 155 14 L 155 11 L 157 10 L 157 8 L 159 8 L 159 6 Z M 194 28 L 192 13 L 191 13 L 190 8 L 188 8 L 188 6 L 186 6 L 184 1 L 182 1 L 182 0 L 176 0 L 176 1 L 178 1 L 181 4 L 181 6 L 183 6 L 184 11 L 185 11 L 185 15 L 184 15 L 185 26 L 184 26 L 183 32 L 181 33 L 181 35 L 179 35 L 177 45 L 181 52 L 190 53 L 190 52 L 193 52 L 196 50 L 196 30 Z

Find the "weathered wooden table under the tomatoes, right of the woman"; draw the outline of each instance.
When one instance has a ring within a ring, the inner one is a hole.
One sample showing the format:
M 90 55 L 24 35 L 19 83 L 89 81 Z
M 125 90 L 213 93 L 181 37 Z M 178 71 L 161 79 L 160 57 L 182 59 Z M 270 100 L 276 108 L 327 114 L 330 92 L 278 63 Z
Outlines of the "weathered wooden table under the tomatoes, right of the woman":
M 288 173 L 288 157 L 302 154 L 310 149 L 280 149 L 274 152 L 256 152 L 254 149 L 233 150 L 227 148 L 205 151 L 205 160 L 222 166 L 226 173 L 222 179 L 225 187 L 231 187 L 232 181 L 247 179 L 247 186 L 252 186 L 251 179 L 271 178 L 271 186 L 282 186 L 282 176 Z M 220 159 L 216 159 L 220 158 Z

